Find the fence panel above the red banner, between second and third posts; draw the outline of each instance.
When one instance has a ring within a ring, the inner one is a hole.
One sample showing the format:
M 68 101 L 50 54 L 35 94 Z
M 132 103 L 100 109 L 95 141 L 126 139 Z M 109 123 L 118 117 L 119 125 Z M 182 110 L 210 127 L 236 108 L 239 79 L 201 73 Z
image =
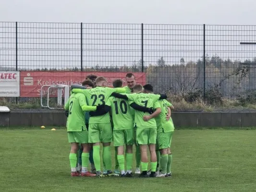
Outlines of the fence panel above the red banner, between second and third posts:
M 83 24 L 84 71 L 141 72 L 140 24 Z

